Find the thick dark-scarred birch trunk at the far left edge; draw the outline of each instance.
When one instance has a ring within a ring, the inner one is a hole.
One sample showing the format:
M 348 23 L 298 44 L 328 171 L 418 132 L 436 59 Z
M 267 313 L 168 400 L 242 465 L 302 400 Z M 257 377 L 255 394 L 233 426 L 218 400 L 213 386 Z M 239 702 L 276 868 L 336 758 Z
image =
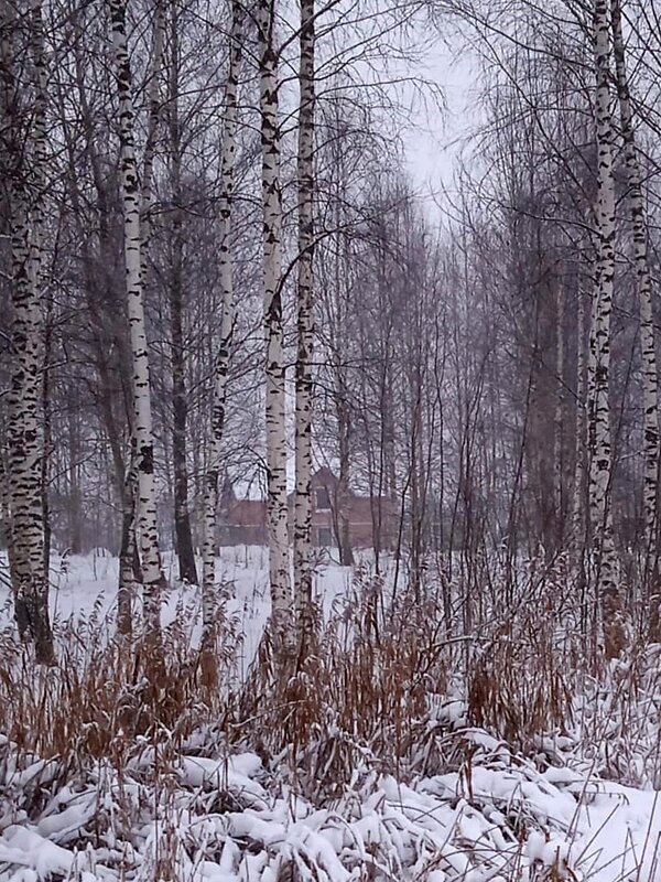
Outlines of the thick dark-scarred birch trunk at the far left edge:
M 30 7 L 30 49 L 34 65 L 32 131 L 25 162 L 20 139 L 17 85 L 13 80 L 13 15 L 2 9 L 3 147 L 10 178 L 11 236 L 11 376 L 8 426 L 9 505 L 11 513 L 11 571 L 15 617 L 23 639 L 34 643 L 40 663 L 53 662 L 48 617 L 48 572 L 44 523 L 43 372 L 44 315 L 42 237 L 47 157 L 46 63 L 42 9 Z M 17 152 L 21 147 L 21 152 Z M 30 166 L 30 168 L 29 168 Z

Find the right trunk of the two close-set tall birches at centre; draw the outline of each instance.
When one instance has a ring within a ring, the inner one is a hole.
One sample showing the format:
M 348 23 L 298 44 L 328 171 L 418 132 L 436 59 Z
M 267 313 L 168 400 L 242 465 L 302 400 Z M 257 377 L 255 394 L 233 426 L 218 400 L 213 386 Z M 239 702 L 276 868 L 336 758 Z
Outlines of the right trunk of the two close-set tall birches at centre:
M 299 281 L 294 496 L 294 602 L 301 657 L 312 622 L 312 356 L 314 260 L 314 0 L 301 0 L 299 68 Z

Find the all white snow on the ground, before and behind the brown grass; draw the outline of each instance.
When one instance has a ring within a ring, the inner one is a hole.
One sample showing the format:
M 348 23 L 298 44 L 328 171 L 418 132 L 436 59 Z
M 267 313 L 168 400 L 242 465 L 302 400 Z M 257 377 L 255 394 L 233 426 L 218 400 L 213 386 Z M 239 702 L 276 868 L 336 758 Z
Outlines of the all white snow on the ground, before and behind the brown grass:
M 266 551 L 228 549 L 221 566 L 245 673 L 268 614 Z M 58 623 L 110 615 L 115 559 L 56 560 L 53 580 Z M 326 612 L 349 585 L 349 570 L 321 568 Z M 196 588 L 173 589 L 164 623 L 198 604 Z M 315 799 L 282 757 L 228 749 L 213 725 L 174 752 L 174 739 L 145 740 L 120 770 L 64 768 L 2 736 L 0 880 L 661 881 L 657 792 L 600 779 L 571 733 L 523 757 L 448 696 L 430 700 L 421 756 L 401 774 L 348 741 L 338 731 L 305 759 L 319 779 L 343 757 L 351 764 L 335 794 Z

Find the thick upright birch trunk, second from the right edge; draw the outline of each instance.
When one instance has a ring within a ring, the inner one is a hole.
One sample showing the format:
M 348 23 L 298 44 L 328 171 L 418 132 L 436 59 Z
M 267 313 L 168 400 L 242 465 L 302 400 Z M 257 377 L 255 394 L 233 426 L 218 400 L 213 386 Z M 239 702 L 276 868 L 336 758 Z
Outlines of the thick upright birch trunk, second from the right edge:
M 613 119 L 609 88 L 608 0 L 595 0 L 595 122 L 597 138 L 597 267 L 590 333 L 589 372 L 589 506 L 593 530 L 595 583 L 600 603 L 604 648 L 608 658 L 627 644 L 627 626 L 618 585 L 618 561 L 613 537 L 610 480 L 610 318 L 615 275 L 615 183 L 613 178 Z

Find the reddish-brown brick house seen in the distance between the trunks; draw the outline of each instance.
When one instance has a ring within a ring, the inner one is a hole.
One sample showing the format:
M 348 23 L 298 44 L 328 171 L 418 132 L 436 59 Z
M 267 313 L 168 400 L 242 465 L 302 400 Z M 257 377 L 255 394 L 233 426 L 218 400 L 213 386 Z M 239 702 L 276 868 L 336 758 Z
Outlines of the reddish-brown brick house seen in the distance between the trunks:
M 394 541 L 395 513 L 384 496 L 360 496 L 349 491 L 344 518 L 338 510 L 338 478 L 323 467 L 312 476 L 312 541 L 319 548 L 338 545 L 343 519 L 351 548 L 371 548 L 379 538 L 381 548 Z M 294 519 L 294 494 L 289 495 L 290 526 Z M 267 504 L 263 499 L 239 499 L 229 481 L 220 497 L 219 536 L 221 546 L 267 545 Z

